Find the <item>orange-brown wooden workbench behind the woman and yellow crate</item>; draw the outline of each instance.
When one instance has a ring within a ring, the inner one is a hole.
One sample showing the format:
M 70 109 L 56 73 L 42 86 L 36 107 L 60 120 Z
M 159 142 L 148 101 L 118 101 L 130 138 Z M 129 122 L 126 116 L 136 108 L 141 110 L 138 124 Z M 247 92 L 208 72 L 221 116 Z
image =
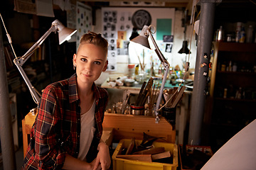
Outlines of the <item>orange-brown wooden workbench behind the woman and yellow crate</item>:
M 30 112 L 22 120 L 24 157 L 35 118 L 36 115 Z M 135 137 L 136 140 L 142 140 L 143 132 L 154 137 L 163 137 L 161 141 L 164 142 L 175 142 L 176 131 L 165 118 L 160 118 L 159 123 L 156 123 L 151 116 L 105 113 L 102 137 L 107 145 L 110 145 L 112 139 L 119 141 Z

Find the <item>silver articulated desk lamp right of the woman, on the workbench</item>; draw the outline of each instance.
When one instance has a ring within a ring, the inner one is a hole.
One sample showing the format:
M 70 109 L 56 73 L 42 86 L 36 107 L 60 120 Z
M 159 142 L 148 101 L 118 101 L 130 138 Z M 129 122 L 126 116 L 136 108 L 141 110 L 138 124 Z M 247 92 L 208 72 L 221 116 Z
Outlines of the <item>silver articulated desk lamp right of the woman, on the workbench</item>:
M 153 33 L 156 33 L 156 28 L 154 28 L 154 31 L 151 30 L 152 28 L 154 28 L 154 26 L 144 26 L 142 28 L 142 31 L 139 34 L 139 36 L 132 39 L 131 41 L 136 42 L 136 43 L 138 43 L 140 45 L 143 45 L 144 47 L 147 47 L 147 48 L 150 49 L 149 40 L 148 40 L 148 38 L 150 37 L 153 44 L 154 44 L 154 47 L 156 48 L 155 49 L 156 55 L 159 57 L 159 60 L 161 61 L 161 64 L 164 66 L 164 77 L 163 77 L 162 84 L 161 84 L 161 87 L 160 87 L 159 96 L 158 96 L 157 101 L 156 101 L 156 110 L 155 110 L 156 123 L 159 123 L 159 120 L 160 120 L 159 119 L 159 106 L 160 106 L 161 98 L 162 98 L 162 95 L 163 95 L 164 84 L 166 83 L 166 77 L 167 77 L 167 74 L 169 72 L 170 64 L 166 60 L 164 55 L 161 53 L 161 51 L 159 50 L 159 47 L 156 45 L 156 41 L 154 40 L 153 35 L 152 35 Z

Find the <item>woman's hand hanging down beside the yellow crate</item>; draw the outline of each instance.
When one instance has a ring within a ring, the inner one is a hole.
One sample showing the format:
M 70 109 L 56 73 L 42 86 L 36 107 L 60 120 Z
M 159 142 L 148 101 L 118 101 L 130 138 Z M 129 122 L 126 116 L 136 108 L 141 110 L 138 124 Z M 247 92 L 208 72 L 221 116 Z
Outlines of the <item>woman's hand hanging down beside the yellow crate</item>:
M 96 170 L 98 166 L 100 166 L 102 170 L 109 169 L 111 164 L 109 147 L 104 142 L 100 142 L 97 149 L 99 152 L 95 159 L 93 170 Z

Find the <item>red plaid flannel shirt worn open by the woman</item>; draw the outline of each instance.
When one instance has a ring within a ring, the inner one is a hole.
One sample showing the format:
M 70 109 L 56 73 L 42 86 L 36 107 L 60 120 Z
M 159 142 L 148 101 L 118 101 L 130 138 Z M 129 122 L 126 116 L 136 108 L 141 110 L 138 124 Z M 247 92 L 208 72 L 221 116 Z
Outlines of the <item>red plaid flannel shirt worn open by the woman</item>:
M 65 154 L 78 157 L 80 141 L 80 106 L 76 74 L 70 79 L 50 84 L 44 89 L 38 115 L 31 129 L 22 169 L 61 169 Z M 105 89 L 92 85 L 95 95 L 95 137 L 87 162 L 97 156 L 102 135 L 102 122 L 108 95 Z

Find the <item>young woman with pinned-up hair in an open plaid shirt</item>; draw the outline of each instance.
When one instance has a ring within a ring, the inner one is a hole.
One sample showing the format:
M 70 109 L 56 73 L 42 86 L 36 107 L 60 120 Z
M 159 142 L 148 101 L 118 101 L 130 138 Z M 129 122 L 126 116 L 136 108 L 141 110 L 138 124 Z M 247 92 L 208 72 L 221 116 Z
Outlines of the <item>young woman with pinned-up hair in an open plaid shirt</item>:
M 107 40 L 89 32 L 73 56 L 76 73 L 43 90 L 22 169 L 108 169 L 100 141 L 107 91 L 94 81 L 107 69 Z

